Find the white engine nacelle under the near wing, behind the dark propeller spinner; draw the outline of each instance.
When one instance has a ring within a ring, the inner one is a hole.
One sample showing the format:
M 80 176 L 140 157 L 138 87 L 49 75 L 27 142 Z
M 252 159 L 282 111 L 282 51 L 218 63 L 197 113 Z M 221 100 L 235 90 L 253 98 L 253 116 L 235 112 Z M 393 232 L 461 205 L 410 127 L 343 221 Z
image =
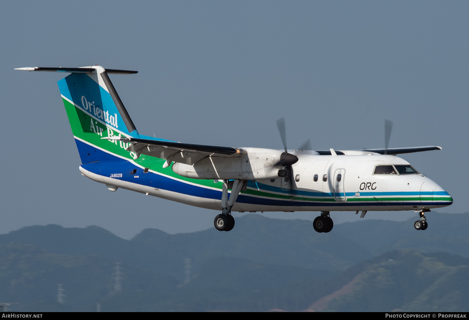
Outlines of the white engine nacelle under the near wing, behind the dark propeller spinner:
M 207 157 L 194 165 L 174 163 L 178 175 L 192 179 L 276 179 L 282 169 L 278 162 L 282 151 L 243 148 L 246 154 L 237 157 Z

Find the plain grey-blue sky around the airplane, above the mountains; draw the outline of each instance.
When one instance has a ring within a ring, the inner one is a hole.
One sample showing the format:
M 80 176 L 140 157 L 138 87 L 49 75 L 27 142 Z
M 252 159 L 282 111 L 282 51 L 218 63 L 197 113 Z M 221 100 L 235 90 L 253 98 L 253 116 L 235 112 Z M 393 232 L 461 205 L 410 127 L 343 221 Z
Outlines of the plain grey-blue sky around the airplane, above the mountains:
M 390 147 L 443 148 L 403 158 L 453 196 L 435 211 L 466 212 L 468 16 L 467 1 L 3 1 L 0 233 L 99 225 L 129 239 L 210 228 L 217 214 L 80 175 L 63 75 L 23 66 L 138 70 L 111 76 L 138 131 L 187 143 L 281 149 L 284 116 L 289 148 L 380 148 L 387 118 Z

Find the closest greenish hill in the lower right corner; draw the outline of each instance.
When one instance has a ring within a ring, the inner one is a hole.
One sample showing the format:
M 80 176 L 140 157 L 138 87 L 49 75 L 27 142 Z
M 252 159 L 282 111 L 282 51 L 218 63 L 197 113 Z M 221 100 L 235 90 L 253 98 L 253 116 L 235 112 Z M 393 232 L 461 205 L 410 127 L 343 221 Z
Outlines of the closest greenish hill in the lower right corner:
M 326 311 L 469 309 L 469 259 L 395 251 L 373 259 L 371 266 L 357 276 L 353 290 L 331 300 Z

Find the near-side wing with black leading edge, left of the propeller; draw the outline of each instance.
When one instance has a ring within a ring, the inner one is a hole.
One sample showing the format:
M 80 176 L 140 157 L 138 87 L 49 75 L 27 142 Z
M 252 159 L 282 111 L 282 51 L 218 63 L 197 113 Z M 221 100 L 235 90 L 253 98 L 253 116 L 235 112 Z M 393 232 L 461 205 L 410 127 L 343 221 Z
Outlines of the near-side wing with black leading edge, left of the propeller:
M 168 167 L 171 161 L 193 165 L 197 161 L 212 155 L 217 157 L 232 157 L 242 156 L 246 153 L 240 148 L 216 145 L 194 145 L 175 141 L 118 136 L 105 137 L 102 139 L 130 142 L 126 150 L 136 153 L 134 159 L 138 159 L 140 154 L 165 159 L 166 163 L 163 167 Z

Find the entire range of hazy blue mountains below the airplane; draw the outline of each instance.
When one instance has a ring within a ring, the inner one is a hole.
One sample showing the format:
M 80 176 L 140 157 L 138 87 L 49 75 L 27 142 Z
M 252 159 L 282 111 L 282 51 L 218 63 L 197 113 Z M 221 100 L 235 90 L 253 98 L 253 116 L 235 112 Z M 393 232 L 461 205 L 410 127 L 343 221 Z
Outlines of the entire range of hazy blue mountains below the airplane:
M 0 301 L 21 302 L 17 311 L 462 311 L 469 261 L 452 253 L 467 252 L 466 216 L 434 214 L 442 230 L 369 220 L 319 234 L 310 221 L 248 215 L 230 233 L 146 229 L 132 240 L 96 226 L 25 227 L 0 235 Z

